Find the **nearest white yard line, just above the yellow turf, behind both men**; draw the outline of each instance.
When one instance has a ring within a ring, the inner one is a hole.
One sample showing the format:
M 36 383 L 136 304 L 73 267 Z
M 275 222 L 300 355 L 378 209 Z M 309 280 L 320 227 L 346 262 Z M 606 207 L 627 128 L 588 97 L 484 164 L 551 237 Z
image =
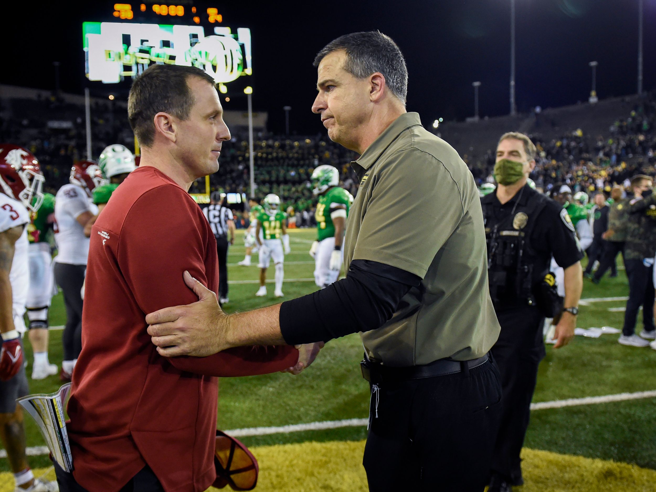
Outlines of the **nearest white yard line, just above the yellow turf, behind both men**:
M 553 408 L 576 407 L 579 405 L 597 405 L 599 403 L 611 403 L 613 401 L 640 400 L 642 398 L 656 398 L 656 390 L 640 391 L 637 393 L 619 393 L 606 396 L 588 396 L 586 398 L 571 398 L 569 400 L 540 401 L 531 403 L 531 410 L 546 410 Z M 304 430 L 325 430 L 342 427 L 363 427 L 368 419 L 346 419 L 325 420 L 323 422 L 310 422 L 308 424 L 292 424 L 277 427 L 251 427 L 244 429 L 226 430 L 226 434 L 236 438 L 244 436 L 267 436 L 268 434 L 289 434 L 291 432 L 302 432 Z M 48 448 L 45 446 L 28 447 L 28 456 L 47 455 Z M 0 458 L 6 458 L 7 451 L 0 449 Z

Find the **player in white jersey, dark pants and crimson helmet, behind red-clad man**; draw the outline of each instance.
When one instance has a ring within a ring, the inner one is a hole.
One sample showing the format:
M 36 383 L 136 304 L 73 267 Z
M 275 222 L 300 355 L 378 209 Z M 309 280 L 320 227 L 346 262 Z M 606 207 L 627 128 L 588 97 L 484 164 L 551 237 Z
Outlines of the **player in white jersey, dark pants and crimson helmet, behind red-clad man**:
M 77 356 L 82 350 L 81 289 L 87 270 L 89 237 L 84 228 L 98 207 L 91 201 L 96 186 L 106 184 L 94 161 L 79 161 L 71 169 L 70 184 L 59 189 L 54 201 L 58 254 L 54 258 L 54 279 L 64 293 L 66 325 L 62 335 L 64 361 L 60 379 L 70 381 Z

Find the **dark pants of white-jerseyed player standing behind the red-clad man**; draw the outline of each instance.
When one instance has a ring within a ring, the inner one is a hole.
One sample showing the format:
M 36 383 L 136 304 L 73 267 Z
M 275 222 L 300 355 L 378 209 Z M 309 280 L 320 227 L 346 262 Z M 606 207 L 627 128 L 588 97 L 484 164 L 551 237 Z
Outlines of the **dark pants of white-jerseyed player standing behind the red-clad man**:
M 64 292 L 66 325 L 62 334 L 64 360 L 77 359 L 82 350 L 82 285 L 85 265 L 54 264 L 54 279 Z

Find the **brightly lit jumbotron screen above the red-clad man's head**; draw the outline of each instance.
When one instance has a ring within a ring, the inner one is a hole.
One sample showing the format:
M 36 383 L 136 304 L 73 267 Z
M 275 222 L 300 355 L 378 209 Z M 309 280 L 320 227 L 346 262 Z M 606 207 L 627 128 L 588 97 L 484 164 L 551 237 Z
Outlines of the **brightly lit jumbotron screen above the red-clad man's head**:
M 142 73 L 148 66 L 195 66 L 228 83 L 253 75 L 251 30 L 202 26 L 84 22 L 82 34 L 85 73 L 91 81 L 119 83 Z

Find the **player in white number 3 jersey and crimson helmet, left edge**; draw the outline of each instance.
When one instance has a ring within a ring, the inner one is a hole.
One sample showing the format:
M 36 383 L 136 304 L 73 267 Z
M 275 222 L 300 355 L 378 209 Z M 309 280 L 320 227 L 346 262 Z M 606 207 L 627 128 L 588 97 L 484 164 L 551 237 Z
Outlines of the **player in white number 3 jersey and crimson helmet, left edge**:
M 58 487 L 35 479 L 25 453 L 23 413 L 16 399 L 29 392 L 23 359 L 25 304 L 30 288 L 30 211 L 43 201 L 43 174 L 27 150 L 0 144 L 0 439 L 7 450 L 16 491 L 48 492 Z M 36 198 L 32 205 L 32 199 Z

